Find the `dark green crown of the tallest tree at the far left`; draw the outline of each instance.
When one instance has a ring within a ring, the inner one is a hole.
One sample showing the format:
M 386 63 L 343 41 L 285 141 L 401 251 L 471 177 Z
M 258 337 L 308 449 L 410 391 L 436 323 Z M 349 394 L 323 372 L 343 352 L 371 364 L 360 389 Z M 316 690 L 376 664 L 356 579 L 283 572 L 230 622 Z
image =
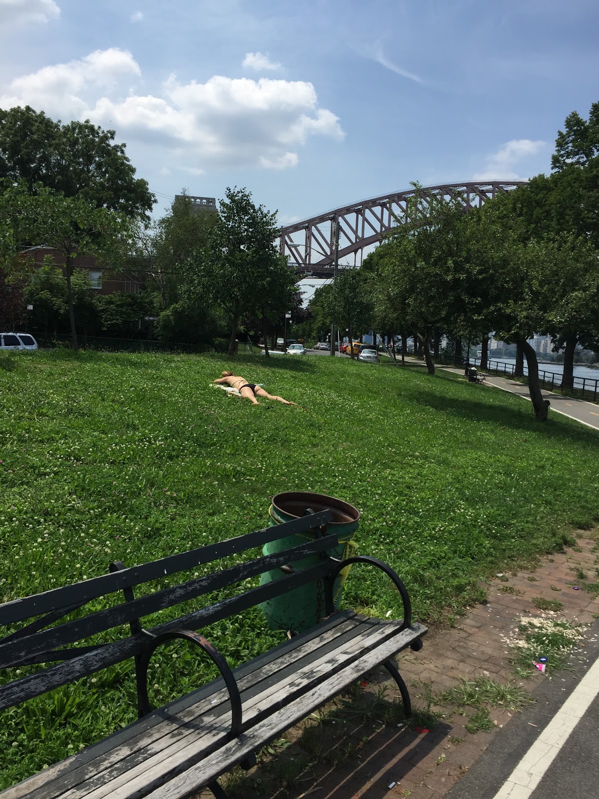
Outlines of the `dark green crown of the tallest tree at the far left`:
M 148 220 L 156 197 L 147 181 L 135 177 L 125 145 L 114 144 L 114 136 L 89 120 L 62 125 L 29 105 L 0 109 L 0 180 L 24 181 L 30 194 L 45 186 Z

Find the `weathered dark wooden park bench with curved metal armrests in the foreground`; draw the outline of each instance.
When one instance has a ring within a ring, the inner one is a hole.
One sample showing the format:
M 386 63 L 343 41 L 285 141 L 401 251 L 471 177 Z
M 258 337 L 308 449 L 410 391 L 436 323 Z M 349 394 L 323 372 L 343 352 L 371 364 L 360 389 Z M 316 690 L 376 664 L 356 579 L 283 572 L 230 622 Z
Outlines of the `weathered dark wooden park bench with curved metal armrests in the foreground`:
M 250 768 L 256 751 L 379 665 L 395 678 L 409 714 L 410 697 L 391 658 L 408 646 L 421 649 L 426 627 L 411 623 L 410 598 L 389 566 L 363 556 L 339 560 L 327 554 L 339 544 L 327 531 L 328 522 L 331 511 L 320 511 L 142 566 L 114 562 L 109 574 L 0 605 L 0 669 L 21 671 L 20 676 L 8 672 L 15 678 L 0 686 L 0 711 L 134 658 L 139 715 L 124 729 L 6 789 L 2 799 L 180 799 L 205 786 L 224 797 L 218 777 L 234 765 Z M 271 555 L 252 552 L 298 533 L 305 543 Z M 243 553 L 245 559 L 238 557 Z M 221 559 L 230 556 L 233 565 L 223 566 Z M 300 570 L 307 558 L 313 565 Z M 335 579 L 350 562 L 378 566 L 391 578 L 403 619 L 335 610 Z M 184 574 L 202 566 L 205 574 Z M 244 586 L 265 572 L 276 578 Z M 177 577 L 169 581 L 170 575 Z M 148 593 L 152 581 L 157 590 Z M 196 632 L 311 581 L 319 581 L 324 592 L 323 621 L 235 669 Z M 136 597 L 134 589 L 142 584 L 146 593 Z M 207 595 L 213 600 L 220 591 L 212 603 L 197 601 Z M 179 618 L 172 618 L 180 610 Z M 169 618 L 145 629 L 141 618 L 154 622 L 158 611 Z M 221 677 L 153 710 L 150 661 L 160 658 L 156 650 L 173 638 L 203 650 Z M 24 670 L 29 673 L 23 676 Z

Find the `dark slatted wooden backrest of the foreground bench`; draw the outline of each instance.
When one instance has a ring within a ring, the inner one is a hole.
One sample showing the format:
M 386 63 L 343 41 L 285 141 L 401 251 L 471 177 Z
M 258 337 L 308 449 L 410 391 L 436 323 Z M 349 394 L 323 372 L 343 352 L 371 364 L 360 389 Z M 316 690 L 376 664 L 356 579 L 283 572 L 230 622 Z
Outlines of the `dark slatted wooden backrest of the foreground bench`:
M 331 511 L 320 511 L 142 566 L 125 568 L 120 562 L 111 563 L 110 574 L 5 602 L 0 605 L 0 635 L 4 633 L 4 637 L 0 638 L 0 669 L 52 662 L 58 662 L 58 665 L 48 666 L 0 686 L 0 710 L 135 657 L 145 650 L 157 634 L 182 627 L 199 630 L 307 582 L 326 578 L 332 565 L 326 553 L 338 544 L 337 536 L 327 532 L 326 525 L 331 519 Z M 299 546 L 226 569 L 218 568 L 209 574 L 153 590 L 138 598 L 134 596 L 133 588 L 142 583 L 164 579 L 169 574 L 187 571 L 307 531 L 315 531 L 315 534 L 307 537 L 305 543 Z M 151 630 L 144 630 L 141 626 L 140 618 L 144 616 L 222 590 L 310 555 L 320 556 L 315 566 L 292 571 L 291 574 L 282 571 L 280 579 L 192 610 Z M 124 599 L 117 594 L 120 591 Z M 106 602 L 106 607 L 97 610 L 97 600 L 111 594 L 117 594 L 120 601 L 115 603 L 112 597 L 110 602 Z M 93 610 L 85 608 L 89 602 L 93 602 Z M 73 614 L 73 618 L 67 620 L 70 614 Z M 126 623 L 129 623 L 130 634 L 121 635 L 118 640 L 114 640 L 112 634 L 109 642 L 72 646 Z

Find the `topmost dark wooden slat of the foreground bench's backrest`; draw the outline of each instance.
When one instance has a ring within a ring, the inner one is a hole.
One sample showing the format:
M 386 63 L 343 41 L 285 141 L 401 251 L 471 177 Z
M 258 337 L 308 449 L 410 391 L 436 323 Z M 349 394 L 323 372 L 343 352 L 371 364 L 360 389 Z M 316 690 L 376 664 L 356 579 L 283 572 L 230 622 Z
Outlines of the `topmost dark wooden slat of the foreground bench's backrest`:
M 169 555 L 167 558 L 151 563 L 131 566 L 112 574 L 102 574 L 100 577 L 77 582 L 72 586 L 61 586 L 61 588 L 44 591 L 42 594 L 13 599 L 0 605 L 0 625 L 21 622 L 26 618 L 50 613 L 52 610 L 59 610 L 69 605 L 85 604 L 85 602 L 104 594 L 111 594 L 117 590 L 137 586 L 142 582 L 149 582 L 168 574 L 177 574 L 179 571 L 193 569 L 229 555 L 262 547 L 265 543 L 276 541 L 276 539 L 319 527 L 330 522 L 331 519 L 331 511 L 319 511 L 319 513 L 303 516 L 300 519 L 292 519 L 291 522 L 285 522 L 276 527 L 265 527 L 254 533 L 239 535 L 234 539 L 197 547 L 177 555 Z

